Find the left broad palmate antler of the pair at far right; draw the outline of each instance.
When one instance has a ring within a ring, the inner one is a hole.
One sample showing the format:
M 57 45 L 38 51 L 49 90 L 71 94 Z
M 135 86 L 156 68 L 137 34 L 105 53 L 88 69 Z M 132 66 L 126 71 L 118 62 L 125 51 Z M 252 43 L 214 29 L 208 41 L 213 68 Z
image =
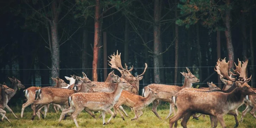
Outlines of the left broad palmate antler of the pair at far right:
M 219 74 L 220 79 L 228 78 L 230 81 L 235 82 L 236 79 L 231 77 L 232 74 L 229 76 L 229 61 L 226 62 L 226 57 L 221 61 L 218 59 L 215 68 L 214 70 Z

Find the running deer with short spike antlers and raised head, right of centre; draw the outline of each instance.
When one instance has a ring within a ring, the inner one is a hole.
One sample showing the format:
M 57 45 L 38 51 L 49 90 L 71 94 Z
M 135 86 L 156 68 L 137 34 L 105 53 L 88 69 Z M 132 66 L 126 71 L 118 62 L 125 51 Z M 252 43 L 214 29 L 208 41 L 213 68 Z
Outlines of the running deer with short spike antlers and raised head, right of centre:
M 156 100 L 153 101 L 153 107 L 152 107 L 152 111 L 153 113 L 161 120 L 161 117 L 158 115 L 156 108 L 159 104 L 159 100 L 161 101 L 165 101 L 170 103 L 170 109 L 169 109 L 169 114 L 166 117 L 166 119 L 172 115 L 172 105 L 171 105 L 171 101 L 169 100 L 170 98 L 172 98 L 172 96 L 177 93 L 178 91 L 180 91 L 181 89 L 184 88 L 191 88 L 193 83 L 197 83 L 199 82 L 199 79 L 194 76 L 191 71 L 186 67 L 188 73 L 185 72 L 180 72 L 184 77 L 184 84 L 182 87 L 176 86 L 176 85 L 165 85 L 165 84 L 149 84 L 148 86 L 144 87 L 142 90 L 142 95 L 144 97 L 147 97 L 149 94 L 149 89 L 151 88 L 153 90 L 155 90 L 156 92 L 158 92 L 158 95 L 161 96 L 161 98 L 157 98 Z

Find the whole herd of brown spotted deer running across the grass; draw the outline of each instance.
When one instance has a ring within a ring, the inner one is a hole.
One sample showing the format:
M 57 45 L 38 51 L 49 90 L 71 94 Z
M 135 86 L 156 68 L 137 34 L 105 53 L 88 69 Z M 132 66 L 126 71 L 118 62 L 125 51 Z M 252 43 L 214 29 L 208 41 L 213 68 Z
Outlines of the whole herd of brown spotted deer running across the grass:
M 182 118 L 181 125 L 186 128 L 187 121 L 191 116 L 198 118 L 201 114 L 210 115 L 211 127 L 217 127 L 217 121 L 219 121 L 222 127 L 225 126 L 223 116 L 226 114 L 233 115 L 235 117 L 236 126 L 238 126 L 238 107 L 246 104 L 246 109 L 242 112 L 241 121 L 246 113 L 250 110 L 250 114 L 256 118 L 256 89 L 251 88 L 248 85 L 250 78 L 247 78 L 246 68 L 248 59 L 241 63 L 238 59 L 238 65 L 234 72 L 229 71 L 229 63 L 225 58 L 218 60 L 215 71 L 220 75 L 221 81 L 225 84 L 224 88 L 220 90 L 215 84 L 208 83 L 209 88 L 192 88 L 193 83 L 199 82 L 199 79 L 194 76 L 191 71 L 187 69 L 188 73 L 181 72 L 185 77 L 184 85 L 182 87 L 175 85 L 164 84 L 149 84 L 142 89 L 142 96 L 138 95 L 139 81 L 143 78 L 143 74 L 147 69 L 145 63 L 145 69 L 141 75 L 134 77 L 131 74 L 133 66 L 128 70 L 128 66 L 125 64 L 125 68 L 121 64 L 121 53 L 115 53 L 109 57 L 109 66 L 117 69 L 122 76 L 119 77 L 114 74 L 114 70 L 109 73 L 105 82 L 92 82 L 83 73 L 83 78 L 78 76 L 65 77 L 70 81 L 66 84 L 65 81 L 56 77 L 52 78 L 56 82 L 54 87 L 30 87 L 24 90 L 26 103 L 22 105 L 21 117 L 23 117 L 24 109 L 31 104 L 33 115 L 32 120 L 36 116 L 41 118 L 46 117 L 47 110 L 50 104 L 56 111 L 62 110 L 59 118 L 59 122 L 71 113 L 71 118 L 78 127 L 76 121 L 77 115 L 81 111 L 85 110 L 93 118 L 95 118 L 94 112 L 101 111 L 103 125 L 108 124 L 110 120 L 117 115 L 117 112 L 124 120 L 123 113 L 128 116 L 124 111 L 122 105 L 126 105 L 131 108 L 135 113 L 135 117 L 132 120 L 138 120 L 142 116 L 142 109 L 148 104 L 153 102 L 153 113 L 161 119 L 157 113 L 157 106 L 160 101 L 170 103 L 169 114 L 166 119 L 172 115 L 174 116 L 169 120 L 169 127 L 172 128 L 173 123 L 177 127 L 177 121 Z M 233 76 L 237 76 L 233 78 Z M 228 80 L 224 79 L 227 78 Z M 0 114 L 2 119 L 8 118 L 5 116 L 6 111 L 3 109 L 6 107 L 15 118 L 18 118 L 13 111 L 8 107 L 8 101 L 14 96 L 18 88 L 25 88 L 21 82 L 15 77 L 9 78 L 12 82 L 12 86 L 8 87 L 5 83 L 0 84 L 1 97 L 0 97 Z M 177 112 L 175 112 L 175 107 Z M 44 114 L 41 109 L 44 108 Z M 114 113 L 110 110 L 114 109 Z M 120 111 L 121 109 L 121 111 Z M 233 111 L 235 110 L 235 111 Z M 105 122 L 105 114 L 111 114 L 110 119 Z M 196 113 L 200 113 L 196 115 Z M 9 121 L 10 122 L 10 121 Z

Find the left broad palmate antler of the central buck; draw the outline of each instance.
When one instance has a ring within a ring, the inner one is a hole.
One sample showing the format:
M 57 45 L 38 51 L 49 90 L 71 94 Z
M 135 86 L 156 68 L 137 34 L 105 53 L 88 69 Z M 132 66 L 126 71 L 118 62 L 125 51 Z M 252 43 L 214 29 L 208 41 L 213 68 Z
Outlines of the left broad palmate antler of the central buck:
M 126 66 L 126 69 L 123 68 L 122 64 L 121 64 L 121 53 L 118 55 L 118 50 L 116 51 L 116 55 L 115 55 L 115 52 L 113 55 L 110 55 L 110 57 L 108 57 L 110 60 L 108 60 L 108 62 L 110 64 L 108 64 L 111 68 L 114 68 L 114 69 L 117 69 L 118 71 L 121 72 L 121 70 L 119 68 L 121 68 L 123 71 L 126 71 L 126 72 L 130 72 L 133 70 L 133 66 L 130 70 L 127 69 L 127 65 L 125 64 Z

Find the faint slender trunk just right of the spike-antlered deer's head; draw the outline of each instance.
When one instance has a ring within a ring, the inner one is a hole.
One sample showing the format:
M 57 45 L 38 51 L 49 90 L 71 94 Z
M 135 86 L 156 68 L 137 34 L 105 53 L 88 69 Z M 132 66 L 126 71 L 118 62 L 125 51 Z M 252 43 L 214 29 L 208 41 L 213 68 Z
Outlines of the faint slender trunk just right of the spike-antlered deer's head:
M 199 25 L 196 25 L 197 31 L 197 59 L 198 59 L 198 66 L 199 66 L 199 79 L 202 80 L 203 72 L 202 72 L 202 56 L 201 56 L 201 47 L 200 47 L 200 38 L 199 38 Z

